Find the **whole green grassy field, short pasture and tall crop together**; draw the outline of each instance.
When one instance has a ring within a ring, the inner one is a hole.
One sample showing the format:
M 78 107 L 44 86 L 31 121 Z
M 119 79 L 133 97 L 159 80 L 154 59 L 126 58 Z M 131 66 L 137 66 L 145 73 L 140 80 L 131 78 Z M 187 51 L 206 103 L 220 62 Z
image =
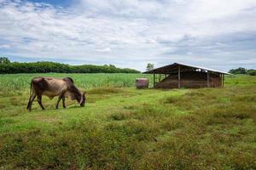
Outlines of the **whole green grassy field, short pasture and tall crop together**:
M 32 77 L 73 77 L 84 108 L 43 97 Z M 224 88 L 134 88 L 140 74 L 0 76 L 0 169 L 256 169 L 256 77 Z M 150 77 L 151 78 L 151 77 Z

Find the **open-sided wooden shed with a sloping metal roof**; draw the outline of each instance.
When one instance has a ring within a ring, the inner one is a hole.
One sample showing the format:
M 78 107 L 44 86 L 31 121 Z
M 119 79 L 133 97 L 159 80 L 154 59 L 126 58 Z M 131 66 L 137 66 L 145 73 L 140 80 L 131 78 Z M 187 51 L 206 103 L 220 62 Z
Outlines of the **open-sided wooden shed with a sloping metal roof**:
M 224 87 L 224 75 L 201 66 L 173 63 L 143 74 L 154 75 L 154 88 L 219 88 Z

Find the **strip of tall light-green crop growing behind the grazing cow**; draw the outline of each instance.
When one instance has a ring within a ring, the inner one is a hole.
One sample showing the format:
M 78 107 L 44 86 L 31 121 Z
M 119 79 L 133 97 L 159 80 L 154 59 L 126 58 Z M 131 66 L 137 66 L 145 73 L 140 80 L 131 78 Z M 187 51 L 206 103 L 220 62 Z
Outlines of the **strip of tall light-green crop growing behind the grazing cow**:
M 125 73 L 95 73 L 95 74 L 11 74 L 0 75 L 0 90 L 8 92 L 9 90 L 22 90 L 29 88 L 32 77 L 72 77 L 79 88 L 102 88 L 102 87 L 133 87 L 137 77 L 148 77 L 143 74 L 125 74 Z

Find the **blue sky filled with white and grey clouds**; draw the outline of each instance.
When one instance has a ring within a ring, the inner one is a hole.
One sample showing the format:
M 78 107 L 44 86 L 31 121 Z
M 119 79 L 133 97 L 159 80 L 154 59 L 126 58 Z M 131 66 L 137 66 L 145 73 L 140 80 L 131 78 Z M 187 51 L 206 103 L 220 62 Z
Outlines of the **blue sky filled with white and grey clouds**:
M 256 69 L 256 0 L 0 0 L 12 61 Z

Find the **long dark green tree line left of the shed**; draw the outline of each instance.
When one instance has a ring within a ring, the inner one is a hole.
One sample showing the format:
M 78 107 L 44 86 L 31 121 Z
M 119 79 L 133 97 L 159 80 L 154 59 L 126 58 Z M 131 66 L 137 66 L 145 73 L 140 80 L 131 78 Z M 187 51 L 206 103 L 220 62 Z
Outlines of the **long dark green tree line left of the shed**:
M 50 61 L 11 62 L 6 57 L 0 57 L 0 74 L 14 73 L 139 73 L 134 69 L 121 69 L 114 65 L 67 65 Z

